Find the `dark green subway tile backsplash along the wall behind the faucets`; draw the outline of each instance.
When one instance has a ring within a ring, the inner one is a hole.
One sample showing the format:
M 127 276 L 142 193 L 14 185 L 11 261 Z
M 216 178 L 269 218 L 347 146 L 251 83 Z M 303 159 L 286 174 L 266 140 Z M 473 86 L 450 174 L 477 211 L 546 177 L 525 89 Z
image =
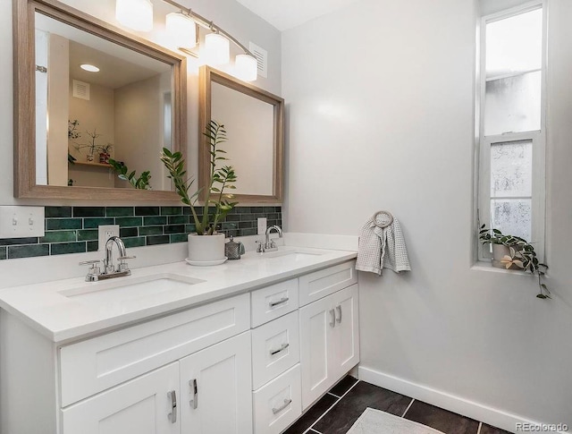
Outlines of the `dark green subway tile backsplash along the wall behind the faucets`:
M 214 209 L 211 208 L 211 212 Z M 202 208 L 198 208 L 202 218 Z M 43 237 L 0 239 L 0 260 L 97 251 L 97 226 L 119 225 L 125 246 L 185 243 L 195 232 L 189 207 L 46 207 Z M 234 208 L 220 222 L 226 236 L 257 234 L 257 217 L 282 226 L 282 207 Z

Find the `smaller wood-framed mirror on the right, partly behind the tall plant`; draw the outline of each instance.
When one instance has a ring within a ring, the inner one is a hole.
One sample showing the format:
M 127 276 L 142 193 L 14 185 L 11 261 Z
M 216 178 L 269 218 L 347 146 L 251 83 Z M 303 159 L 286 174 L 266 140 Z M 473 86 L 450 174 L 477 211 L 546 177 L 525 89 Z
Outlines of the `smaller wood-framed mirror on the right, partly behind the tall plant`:
M 234 200 L 282 203 L 284 100 L 223 72 L 199 72 L 198 187 L 208 185 L 211 155 L 203 135 L 211 120 L 222 123 L 228 141 L 221 147 L 237 174 Z

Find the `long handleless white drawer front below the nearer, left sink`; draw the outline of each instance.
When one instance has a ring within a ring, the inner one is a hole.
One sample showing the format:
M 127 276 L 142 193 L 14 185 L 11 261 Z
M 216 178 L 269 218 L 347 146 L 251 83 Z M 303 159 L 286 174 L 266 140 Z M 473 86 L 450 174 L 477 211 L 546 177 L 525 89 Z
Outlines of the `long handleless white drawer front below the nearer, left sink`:
M 63 346 L 62 406 L 248 330 L 249 309 L 241 294 Z

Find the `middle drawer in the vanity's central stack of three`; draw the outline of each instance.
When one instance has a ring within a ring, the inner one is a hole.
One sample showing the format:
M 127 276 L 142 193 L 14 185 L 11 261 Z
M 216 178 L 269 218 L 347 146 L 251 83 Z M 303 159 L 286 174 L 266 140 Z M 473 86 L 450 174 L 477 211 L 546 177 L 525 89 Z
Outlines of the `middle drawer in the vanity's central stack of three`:
M 300 360 L 298 311 L 252 330 L 252 388 L 262 387 Z

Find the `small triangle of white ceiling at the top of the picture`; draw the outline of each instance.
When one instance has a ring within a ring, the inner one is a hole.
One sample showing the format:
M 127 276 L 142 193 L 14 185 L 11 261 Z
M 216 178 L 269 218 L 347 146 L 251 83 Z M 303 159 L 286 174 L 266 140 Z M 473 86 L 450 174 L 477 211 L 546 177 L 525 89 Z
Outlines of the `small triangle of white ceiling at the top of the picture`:
M 288 30 L 358 0 L 238 0 L 278 30 Z

